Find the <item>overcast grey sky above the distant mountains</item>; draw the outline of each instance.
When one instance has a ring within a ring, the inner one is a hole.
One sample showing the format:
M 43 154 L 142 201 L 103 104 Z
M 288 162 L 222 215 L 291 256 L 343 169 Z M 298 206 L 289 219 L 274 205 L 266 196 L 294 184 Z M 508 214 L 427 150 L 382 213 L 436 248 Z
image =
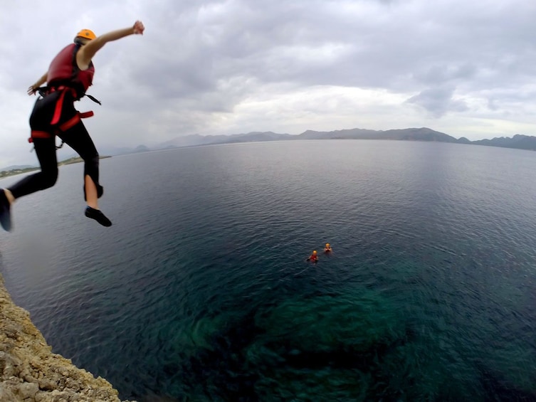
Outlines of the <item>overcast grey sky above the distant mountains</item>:
M 187 134 L 430 127 L 536 135 L 534 0 L 1 1 L 0 166 L 35 163 L 26 89 L 80 28 L 108 43 L 98 147 Z

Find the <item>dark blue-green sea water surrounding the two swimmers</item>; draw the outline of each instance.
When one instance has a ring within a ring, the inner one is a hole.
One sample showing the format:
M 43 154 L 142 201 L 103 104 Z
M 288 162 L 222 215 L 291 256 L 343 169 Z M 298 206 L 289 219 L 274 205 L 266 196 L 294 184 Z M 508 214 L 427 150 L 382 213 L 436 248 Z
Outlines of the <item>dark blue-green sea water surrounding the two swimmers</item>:
M 102 167 L 114 226 L 65 166 L 16 204 L 0 272 L 122 398 L 536 400 L 535 153 L 273 142 Z

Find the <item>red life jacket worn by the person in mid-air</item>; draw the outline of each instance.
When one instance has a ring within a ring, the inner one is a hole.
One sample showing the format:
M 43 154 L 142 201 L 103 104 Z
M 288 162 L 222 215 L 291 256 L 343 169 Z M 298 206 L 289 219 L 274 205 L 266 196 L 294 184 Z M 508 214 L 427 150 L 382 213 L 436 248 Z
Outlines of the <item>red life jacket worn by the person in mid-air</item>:
M 75 99 L 85 95 L 93 82 L 95 66 L 90 63 L 87 70 L 80 70 L 76 63 L 76 53 L 80 49 L 77 43 L 71 43 L 65 46 L 63 50 L 53 58 L 50 67 L 48 67 L 47 83 L 49 87 L 59 87 L 65 85 L 73 88 L 76 92 Z

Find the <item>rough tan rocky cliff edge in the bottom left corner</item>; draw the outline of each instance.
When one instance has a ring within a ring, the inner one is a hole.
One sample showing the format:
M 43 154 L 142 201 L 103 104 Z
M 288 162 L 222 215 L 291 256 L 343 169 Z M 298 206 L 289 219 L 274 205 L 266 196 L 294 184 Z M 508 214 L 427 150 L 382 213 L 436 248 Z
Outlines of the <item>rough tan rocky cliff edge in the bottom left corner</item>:
M 30 314 L 11 300 L 1 275 L 0 401 L 120 402 L 108 381 L 52 353 Z

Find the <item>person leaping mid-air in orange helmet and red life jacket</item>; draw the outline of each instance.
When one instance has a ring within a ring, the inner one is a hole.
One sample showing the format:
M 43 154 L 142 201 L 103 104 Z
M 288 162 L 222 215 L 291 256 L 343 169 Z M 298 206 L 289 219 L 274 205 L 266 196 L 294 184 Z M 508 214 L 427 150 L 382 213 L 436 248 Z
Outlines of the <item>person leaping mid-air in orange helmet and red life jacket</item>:
M 76 34 L 74 43 L 65 46 L 53 58 L 48 71 L 28 88 L 28 95 L 35 95 L 36 92 L 41 95 L 31 112 L 29 139 L 36 149 L 41 171 L 26 176 L 9 189 L 0 189 L 0 224 L 6 231 L 11 231 L 11 204 L 16 199 L 56 184 L 56 135 L 84 161 L 83 190 L 88 204 L 85 216 L 95 219 L 103 226 L 112 226 L 110 219 L 98 207 L 98 199 L 103 195 L 103 186 L 99 184 L 99 154 L 80 120 L 93 115 L 93 112 L 88 115 L 78 112 L 74 102 L 80 100 L 93 83 L 95 66 L 92 59 L 95 53 L 108 42 L 125 36 L 142 35 L 144 29 L 141 21 L 136 21 L 130 28 L 118 29 L 102 36 L 95 36 L 93 31 L 83 29 Z M 47 84 L 46 87 L 41 87 L 44 83 Z

